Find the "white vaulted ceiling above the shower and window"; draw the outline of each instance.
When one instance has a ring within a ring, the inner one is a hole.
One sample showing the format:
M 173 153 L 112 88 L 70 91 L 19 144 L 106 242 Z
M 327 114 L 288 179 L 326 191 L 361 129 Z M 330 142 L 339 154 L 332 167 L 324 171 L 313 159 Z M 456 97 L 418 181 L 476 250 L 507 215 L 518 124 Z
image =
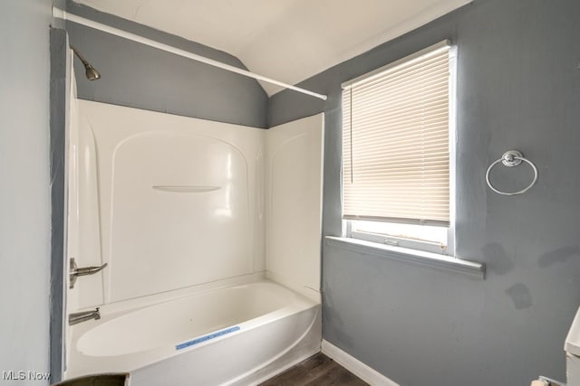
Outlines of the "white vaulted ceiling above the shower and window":
M 471 0 L 75 0 L 296 84 Z M 269 95 L 280 89 L 264 84 Z

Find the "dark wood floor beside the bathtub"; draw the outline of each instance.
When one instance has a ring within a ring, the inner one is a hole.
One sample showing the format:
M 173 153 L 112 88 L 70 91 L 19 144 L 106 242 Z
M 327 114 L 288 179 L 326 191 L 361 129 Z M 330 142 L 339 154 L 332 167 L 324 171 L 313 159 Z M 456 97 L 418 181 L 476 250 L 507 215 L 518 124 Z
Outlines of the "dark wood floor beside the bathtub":
M 317 353 L 260 386 L 368 386 L 352 372 Z

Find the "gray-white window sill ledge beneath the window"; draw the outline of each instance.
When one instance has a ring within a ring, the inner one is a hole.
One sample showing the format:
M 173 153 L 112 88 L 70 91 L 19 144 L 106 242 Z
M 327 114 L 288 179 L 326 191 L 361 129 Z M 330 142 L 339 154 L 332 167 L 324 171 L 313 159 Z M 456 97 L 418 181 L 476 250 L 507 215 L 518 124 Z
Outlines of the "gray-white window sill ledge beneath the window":
M 422 250 L 393 247 L 377 242 L 351 239 L 345 237 L 326 236 L 326 245 L 348 249 L 356 253 L 371 254 L 385 259 L 393 259 L 423 267 L 437 268 L 452 273 L 468 275 L 471 278 L 483 280 L 485 265 L 474 261 L 452 258 L 437 253 Z

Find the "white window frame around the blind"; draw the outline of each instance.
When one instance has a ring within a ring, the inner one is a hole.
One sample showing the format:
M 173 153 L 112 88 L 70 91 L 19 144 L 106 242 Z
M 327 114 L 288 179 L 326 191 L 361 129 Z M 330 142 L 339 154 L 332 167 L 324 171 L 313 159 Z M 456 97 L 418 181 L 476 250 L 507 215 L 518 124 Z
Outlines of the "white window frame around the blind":
M 382 66 L 374 71 L 369 71 L 361 76 L 344 82 L 342 84 L 343 89 L 352 86 L 361 80 L 368 80 L 374 76 L 379 76 L 383 71 L 387 71 L 390 68 L 396 67 L 400 64 L 407 63 L 414 59 L 419 58 L 421 55 L 440 49 L 444 45 L 449 47 L 449 227 L 447 227 L 447 246 L 441 248 L 441 245 L 437 242 L 432 242 L 428 240 L 416 240 L 408 239 L 400 236 L 393 236 L 389 234 L 373 233 L 365 231 L 353 231 L 353 221 L 343 219 L 343 235 L 346 238 L 371 241 L 373 243 L 384 244 L 387 246 L 398 247 L 401 249 L 417 250 L 420 252 L 429 252 L 449 257 L 455 257 L 455 240 L 456 240 L 456 156 L 457 156 L 457 142 L 458 142 L 458 132 L 457 132 L 457 46 L 445 40 L 431 45 L 418 52 L 411 53 L 397 61 L 392 61 L 391 63 Z M 343 196 L 343 162 L 341 162 L 341 202 Z M 396 223 L 396 221 L 379 221 L 384 223 Z M 421 226 L 421 225 L 416 225 Z

